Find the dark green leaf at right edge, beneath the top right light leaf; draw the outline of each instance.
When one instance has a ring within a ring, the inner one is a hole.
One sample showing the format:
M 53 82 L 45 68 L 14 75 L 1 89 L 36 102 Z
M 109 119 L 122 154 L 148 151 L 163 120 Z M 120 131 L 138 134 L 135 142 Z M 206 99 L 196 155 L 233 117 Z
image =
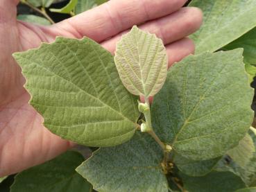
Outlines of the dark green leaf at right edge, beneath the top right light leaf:
M 223 47 L 224 51 L 244 48 L 244 61 L 250 64 L 256 64 L 256 28 L 234 40 Z

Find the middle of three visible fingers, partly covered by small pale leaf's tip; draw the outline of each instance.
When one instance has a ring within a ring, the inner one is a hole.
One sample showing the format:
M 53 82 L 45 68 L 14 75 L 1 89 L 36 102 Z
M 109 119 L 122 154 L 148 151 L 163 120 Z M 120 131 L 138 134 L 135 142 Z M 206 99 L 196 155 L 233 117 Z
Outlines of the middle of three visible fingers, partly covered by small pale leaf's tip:
M 203 14 L 200 9 L 181 8 L 177 12 L 167 15 L 166 17 L 148 21 L 146 24 L 139 26 L 139 28 L 148 31 L 149 33 L 155 33 L 157 37 L 160 37 L 163 40 L 164 44 L 169 44 L 194 33 L 200 28 L 202 20 Z M 112 37 L 110 40 L 106 40 L 101 44 L 105 49 L 114 53 L 117 41 L 120 40 L 121 35 L 128 33 L 128 31 L 129 30 L 119 33 L 115 37 Z

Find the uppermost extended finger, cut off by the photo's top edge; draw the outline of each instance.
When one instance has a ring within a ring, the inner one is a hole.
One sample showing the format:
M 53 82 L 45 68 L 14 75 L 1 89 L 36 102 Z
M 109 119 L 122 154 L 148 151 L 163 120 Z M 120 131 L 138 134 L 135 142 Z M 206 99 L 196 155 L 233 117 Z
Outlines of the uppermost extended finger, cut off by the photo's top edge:
M 111 0 L 108 3 L 71 17 L 51 28 L 56 35 L 87 36 L 101 42 L 145 21 L 175 12 L 186 0 Z

